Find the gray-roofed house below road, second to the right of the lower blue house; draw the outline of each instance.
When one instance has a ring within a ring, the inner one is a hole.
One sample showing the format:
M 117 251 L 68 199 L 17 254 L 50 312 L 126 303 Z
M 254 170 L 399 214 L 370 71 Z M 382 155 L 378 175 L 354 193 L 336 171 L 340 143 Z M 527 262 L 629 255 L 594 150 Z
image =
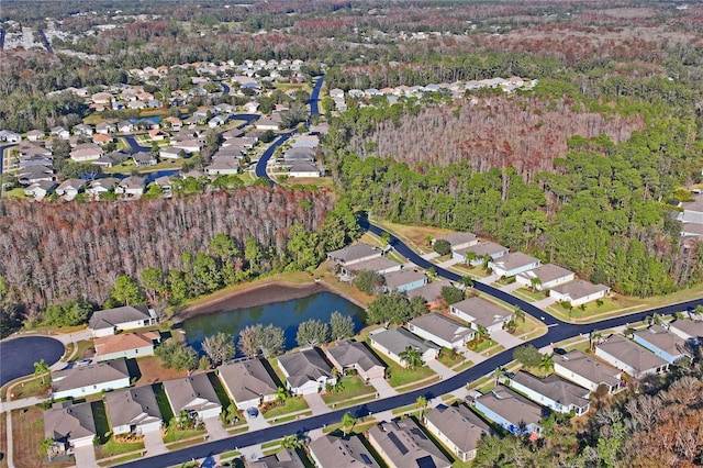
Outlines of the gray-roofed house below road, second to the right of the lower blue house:
M 615 393 L 625 387 L 620 369 L 580 350 L 574 349 L 561 356 L 555 354 L 553 360 L 557 376 L 590 391 L 596 391 L 602 386 L 609 393 Z

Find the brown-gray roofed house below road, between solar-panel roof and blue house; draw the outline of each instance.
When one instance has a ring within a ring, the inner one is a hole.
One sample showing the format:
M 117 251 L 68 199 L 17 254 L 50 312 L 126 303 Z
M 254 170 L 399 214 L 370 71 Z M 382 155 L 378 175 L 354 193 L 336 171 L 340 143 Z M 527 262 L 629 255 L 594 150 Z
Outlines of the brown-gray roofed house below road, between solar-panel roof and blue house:
M 437 406 L 426 417 L 461 452 L 476 449 L 479 441 L 491 434 L 491 427 L 462 404 Z

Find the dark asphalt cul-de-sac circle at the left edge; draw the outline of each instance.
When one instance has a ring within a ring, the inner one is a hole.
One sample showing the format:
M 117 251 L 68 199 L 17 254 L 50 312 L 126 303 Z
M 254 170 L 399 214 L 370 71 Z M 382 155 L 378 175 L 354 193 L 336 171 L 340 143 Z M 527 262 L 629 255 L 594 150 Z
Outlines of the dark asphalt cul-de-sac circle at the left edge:
M 19 377 L 34 374 L 34 363 L 49 366 L 64 355 L 64 345 L 46 336 L 23 336 L 0 342 L 0 387 Z

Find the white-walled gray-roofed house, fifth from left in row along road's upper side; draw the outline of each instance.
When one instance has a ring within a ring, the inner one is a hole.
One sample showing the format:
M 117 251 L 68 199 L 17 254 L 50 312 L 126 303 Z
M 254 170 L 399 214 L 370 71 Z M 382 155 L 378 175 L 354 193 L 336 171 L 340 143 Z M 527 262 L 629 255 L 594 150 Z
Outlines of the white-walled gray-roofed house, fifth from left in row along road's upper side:
M 327 383 L 335 385 L 332 367 L 316 348 L 284 354 L 278 358 L 278 367 L 286 376 L 286 386 L 292 394 L 317 393 Z

